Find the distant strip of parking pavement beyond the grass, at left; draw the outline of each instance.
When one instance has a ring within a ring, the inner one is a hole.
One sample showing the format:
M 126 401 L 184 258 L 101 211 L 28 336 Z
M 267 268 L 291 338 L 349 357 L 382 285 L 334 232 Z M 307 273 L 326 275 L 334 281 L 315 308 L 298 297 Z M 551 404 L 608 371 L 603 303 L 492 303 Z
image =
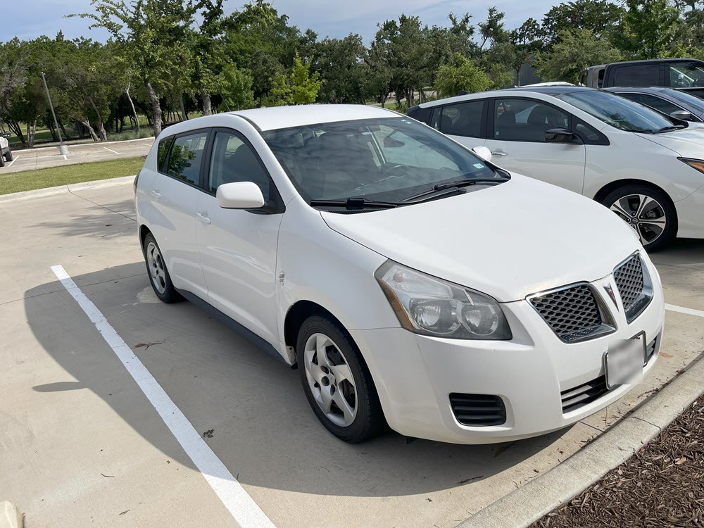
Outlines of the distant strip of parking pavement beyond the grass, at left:
M 88 143 L 68 145 L 68 154 L 58 153 L 58 147 L 47 146 L 39 149 L 13 151 L 13 161 L 0 168 L 0 175 L 23 170 L 75 165 L 91 161 L 108 161 L 119 158 L 146 156 L 154 142 L 153 137 L 131 139 L 125 142 Z

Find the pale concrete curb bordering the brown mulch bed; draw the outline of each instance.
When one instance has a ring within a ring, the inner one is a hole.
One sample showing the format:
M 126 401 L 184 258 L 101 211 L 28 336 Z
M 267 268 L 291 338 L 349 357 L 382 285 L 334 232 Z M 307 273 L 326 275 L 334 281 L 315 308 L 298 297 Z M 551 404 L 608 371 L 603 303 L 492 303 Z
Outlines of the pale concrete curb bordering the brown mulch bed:
M 524 528 L 621 465 L 704 392 L 704 357 L 591 444 L 552 470 L 475 513 L 457 528 Z

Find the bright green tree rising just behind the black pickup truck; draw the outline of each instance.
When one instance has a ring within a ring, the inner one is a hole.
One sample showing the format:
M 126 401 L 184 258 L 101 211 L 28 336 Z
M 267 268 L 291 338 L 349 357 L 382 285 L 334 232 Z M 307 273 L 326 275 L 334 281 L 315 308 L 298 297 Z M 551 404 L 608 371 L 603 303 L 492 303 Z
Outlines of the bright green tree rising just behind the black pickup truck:
M 674 49 L 679 8 L 670 0 L 625 0 L 623 32 L 617 44 L 630 58 L 659 58 Z

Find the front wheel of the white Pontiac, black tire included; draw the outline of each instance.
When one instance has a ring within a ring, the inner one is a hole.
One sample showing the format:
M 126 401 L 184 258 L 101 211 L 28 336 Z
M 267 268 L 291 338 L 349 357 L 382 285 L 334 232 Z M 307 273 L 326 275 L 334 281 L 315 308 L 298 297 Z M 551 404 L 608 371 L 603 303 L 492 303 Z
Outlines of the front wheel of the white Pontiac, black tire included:
M 325 351 L 325 359 L 321 351 Z M 329 432 L 357 444 L 384 431 L 386 420 L 372 376 L 356 344 L 337 320 L 320 313 L 303 321 L 296 356 L 308 403 Z

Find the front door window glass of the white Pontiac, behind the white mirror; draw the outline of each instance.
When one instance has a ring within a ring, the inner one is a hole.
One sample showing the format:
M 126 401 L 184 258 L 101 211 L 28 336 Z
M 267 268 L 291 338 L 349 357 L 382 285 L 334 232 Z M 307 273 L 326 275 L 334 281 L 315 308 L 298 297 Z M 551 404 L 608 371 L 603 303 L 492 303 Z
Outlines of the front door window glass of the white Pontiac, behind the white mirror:
M 208 191 L 216 192 L 220 185 L 233 182 L 254 182 L 261 189 L 264 199 L 268 199 L 269 176 L 256 154 L 239 136 L 218 132 L 210 157 Z

